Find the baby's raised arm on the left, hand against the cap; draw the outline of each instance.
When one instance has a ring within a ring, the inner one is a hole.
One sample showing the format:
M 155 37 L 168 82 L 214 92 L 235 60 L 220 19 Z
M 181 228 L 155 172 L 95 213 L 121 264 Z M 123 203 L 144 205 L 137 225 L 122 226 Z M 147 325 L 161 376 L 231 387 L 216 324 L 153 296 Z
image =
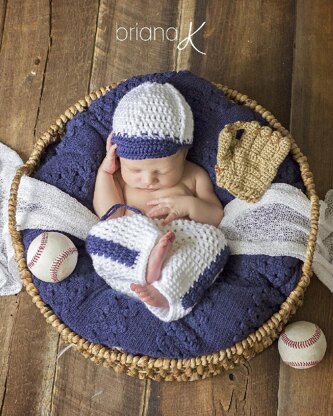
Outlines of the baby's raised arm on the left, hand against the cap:
M 115 204 L 124 203 L 124 195 L 117 176 L 119 175 L 119 161 L 116 159 L 117 145 L 111 144 L 111 134 L 107 139 L 107 154 L 98 169 L 93 197 L 95 213 L 102 217 Z M 109 218 L 121 217 L 125 209 L 118 209 Z

